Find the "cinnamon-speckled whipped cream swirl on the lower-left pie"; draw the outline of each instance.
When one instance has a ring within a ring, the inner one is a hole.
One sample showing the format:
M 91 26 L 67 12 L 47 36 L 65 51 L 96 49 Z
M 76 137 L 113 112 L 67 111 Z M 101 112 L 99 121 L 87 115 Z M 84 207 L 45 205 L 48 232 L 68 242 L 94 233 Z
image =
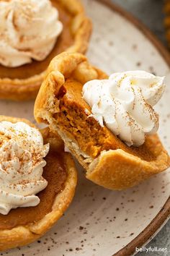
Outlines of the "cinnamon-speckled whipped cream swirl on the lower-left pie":
M 0 122 L 0 213 L 39 204 L 38 192 L 47 187 L 42 177 L 49 145 L 38 129 L 23 122 Z

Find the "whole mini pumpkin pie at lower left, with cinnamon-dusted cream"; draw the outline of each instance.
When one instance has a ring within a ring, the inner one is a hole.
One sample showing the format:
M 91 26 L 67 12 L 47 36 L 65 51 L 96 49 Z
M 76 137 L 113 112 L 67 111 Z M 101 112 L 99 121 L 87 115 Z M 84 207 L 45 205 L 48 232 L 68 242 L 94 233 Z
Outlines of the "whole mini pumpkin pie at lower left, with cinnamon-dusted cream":
M 9 116 L 0 116 L 0 166 L 0 250 L 4 250 L 45 234 L 71 203 L 77 177 L 60 137 Z

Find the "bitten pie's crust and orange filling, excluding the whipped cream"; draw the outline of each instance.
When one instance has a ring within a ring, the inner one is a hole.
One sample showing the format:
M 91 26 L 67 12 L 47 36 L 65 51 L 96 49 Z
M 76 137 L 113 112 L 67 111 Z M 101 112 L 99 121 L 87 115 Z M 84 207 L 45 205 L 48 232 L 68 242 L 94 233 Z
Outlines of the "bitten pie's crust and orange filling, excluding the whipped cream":
M 35 101 L 35 119 L 49 124 L 86 169 L 86 178 L 109 189 L 125 189 L 169 167 L 158 135 L 128 147 L 91 116 L 83 85 L 107 78 L 81 54 L 60 54 L 51 61 Z

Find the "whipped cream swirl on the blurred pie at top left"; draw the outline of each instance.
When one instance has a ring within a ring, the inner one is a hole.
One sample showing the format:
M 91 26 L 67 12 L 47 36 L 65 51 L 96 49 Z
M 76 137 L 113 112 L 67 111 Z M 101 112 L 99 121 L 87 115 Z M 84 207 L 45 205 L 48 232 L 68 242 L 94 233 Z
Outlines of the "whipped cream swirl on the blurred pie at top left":
M 0 64 L 6 67 L 42 61 L 63 30 L 50 0 L 2 0 L 0 20 Z

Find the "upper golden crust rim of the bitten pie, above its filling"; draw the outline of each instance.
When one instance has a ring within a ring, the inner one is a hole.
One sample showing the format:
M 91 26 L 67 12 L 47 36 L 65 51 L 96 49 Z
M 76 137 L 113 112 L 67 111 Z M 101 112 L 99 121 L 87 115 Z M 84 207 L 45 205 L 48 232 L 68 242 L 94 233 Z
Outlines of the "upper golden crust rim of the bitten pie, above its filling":
M 55 101 L 55 95 L 65 82 L 64 76 L 69 74 L 73 74 L 80 82 L 97 79 L 99 76 L 107 77 L 107 74 L 92 67 L 83 54 L 63 52 L 55 56 L 50 61 L 45 79 L 35 100 L 34 115 L 38 123 L 45 122 L 45 115 L 49 114 L 50 111 L 53 114 L 52 112 L 57 110 L 59 101 Z M 54 102 L 56 103 L 55 108 L 53 106 Z M 52 108 L 54 109 L 52 110 Z

